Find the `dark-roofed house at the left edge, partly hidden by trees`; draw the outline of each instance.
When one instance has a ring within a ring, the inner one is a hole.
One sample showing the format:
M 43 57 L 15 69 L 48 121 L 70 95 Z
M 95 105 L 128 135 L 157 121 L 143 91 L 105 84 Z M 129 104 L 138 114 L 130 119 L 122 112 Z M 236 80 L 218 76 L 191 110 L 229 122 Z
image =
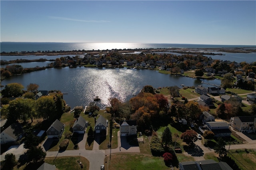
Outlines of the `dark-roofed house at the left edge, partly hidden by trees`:
M 12 124 L 9 127 L 7 127 L 4 131 L 1 132 L 1 134 L 0 134 L 1 144 L 15 142 L 18 139 L 22 138 L 22 133 L 15 134 L 14 129 L 16 129 L 16 128 L 21 129 L 21 127 L 19 127 L 18 124 Z

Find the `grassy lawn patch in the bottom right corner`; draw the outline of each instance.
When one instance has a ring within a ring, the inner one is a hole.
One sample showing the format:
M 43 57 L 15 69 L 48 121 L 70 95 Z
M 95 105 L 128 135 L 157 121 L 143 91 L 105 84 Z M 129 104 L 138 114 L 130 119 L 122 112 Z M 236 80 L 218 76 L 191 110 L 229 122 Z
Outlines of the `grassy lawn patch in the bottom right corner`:
M 241 170 L 255 169 L 256 167 L 256 151 L 254 150 L 230 150 L 228 153 Z

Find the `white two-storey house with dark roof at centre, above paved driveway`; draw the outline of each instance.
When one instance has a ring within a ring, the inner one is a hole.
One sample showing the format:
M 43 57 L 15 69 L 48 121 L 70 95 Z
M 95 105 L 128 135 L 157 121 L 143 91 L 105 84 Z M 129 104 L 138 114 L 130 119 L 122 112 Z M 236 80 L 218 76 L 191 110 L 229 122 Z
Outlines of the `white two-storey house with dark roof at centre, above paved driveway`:
M 136 120 L 120 121 L 120 136 L 136 135 L 137 125 Z

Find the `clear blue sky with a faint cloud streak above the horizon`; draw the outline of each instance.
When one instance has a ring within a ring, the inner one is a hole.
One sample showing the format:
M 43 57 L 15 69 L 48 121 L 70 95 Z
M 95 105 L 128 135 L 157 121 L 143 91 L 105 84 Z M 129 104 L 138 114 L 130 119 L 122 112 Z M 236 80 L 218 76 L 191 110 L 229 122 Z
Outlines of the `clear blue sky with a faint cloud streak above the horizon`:
M 256 45 L 256 1 L 0 1 L 0 41 Z

